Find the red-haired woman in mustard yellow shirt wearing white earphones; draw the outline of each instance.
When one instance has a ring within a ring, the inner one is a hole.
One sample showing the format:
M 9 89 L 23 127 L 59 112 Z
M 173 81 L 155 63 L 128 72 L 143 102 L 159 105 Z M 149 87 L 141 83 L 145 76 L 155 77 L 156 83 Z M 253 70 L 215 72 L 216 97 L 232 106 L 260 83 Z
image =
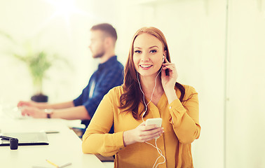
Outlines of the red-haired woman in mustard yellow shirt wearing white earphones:
M 83 153 L 115 155 L 115 167 L 193 167 L 191 142 L 201 132 L 198 94 L 176 80 L 163 33 L 139 29 L 124 83 L 102 99 L 83 135 Z M 162 118 L 162 127 L 145 125 L 147 118 Z M 112 124 L 115 133 L 108 134 Z

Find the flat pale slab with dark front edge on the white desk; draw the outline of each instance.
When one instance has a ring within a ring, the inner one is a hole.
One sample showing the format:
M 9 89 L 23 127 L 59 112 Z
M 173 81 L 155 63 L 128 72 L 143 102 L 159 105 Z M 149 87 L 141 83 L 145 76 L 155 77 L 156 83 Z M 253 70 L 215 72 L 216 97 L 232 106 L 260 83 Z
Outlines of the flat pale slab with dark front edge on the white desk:
M 19 146 L 48 145 L 48 138 L 45 132 L 19 132 L 1 133 L 5 137 L 18 139 Z M 8 139 L 0 139 L 0 146 L 10 146 Z

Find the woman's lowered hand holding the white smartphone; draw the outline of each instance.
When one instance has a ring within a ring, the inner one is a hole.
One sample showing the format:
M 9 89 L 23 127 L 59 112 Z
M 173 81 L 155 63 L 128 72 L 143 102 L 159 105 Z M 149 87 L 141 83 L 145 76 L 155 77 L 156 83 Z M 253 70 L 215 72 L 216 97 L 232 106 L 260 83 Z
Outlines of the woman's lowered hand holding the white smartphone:
M 163 134 L 163 127 L 156 125 L 145 125 L 145 121 L 133 130 L 123 132 L 123 144 L 128 146 L 136 142 L 146 142 L 160 137 Z

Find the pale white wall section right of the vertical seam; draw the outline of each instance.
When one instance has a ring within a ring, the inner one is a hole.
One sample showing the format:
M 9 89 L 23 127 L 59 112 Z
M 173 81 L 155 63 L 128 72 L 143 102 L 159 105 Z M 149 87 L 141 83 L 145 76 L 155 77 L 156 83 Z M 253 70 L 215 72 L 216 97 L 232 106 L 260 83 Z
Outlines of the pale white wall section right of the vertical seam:
M 229 2 L 227 168 L 265 167 L 264 5 L 265 1 Z

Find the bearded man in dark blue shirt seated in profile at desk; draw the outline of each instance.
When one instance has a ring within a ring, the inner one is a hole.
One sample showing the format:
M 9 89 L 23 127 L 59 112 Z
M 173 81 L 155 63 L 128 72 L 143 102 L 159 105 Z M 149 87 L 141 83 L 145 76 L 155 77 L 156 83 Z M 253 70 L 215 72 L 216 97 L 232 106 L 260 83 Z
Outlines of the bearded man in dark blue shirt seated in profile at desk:
M 23 116 L 33 118 L 63 118 L 67 120 L 82 120 L 88 127 L 97 106 L 104 94 L 112 87 L 123 83 L 123 65 L 117 61 L 115 44 L 117 34 L 114 27 L 104 23 L 90 29 L 89 48 L 93 58 L 100 59 L 97 71 L 90 77 L 88 85 L 79 97 L 69 102 L 58 104 L 23 102 L 18 103 Z M 113 133 L 114 131 L 111 130 Z

